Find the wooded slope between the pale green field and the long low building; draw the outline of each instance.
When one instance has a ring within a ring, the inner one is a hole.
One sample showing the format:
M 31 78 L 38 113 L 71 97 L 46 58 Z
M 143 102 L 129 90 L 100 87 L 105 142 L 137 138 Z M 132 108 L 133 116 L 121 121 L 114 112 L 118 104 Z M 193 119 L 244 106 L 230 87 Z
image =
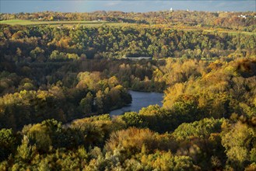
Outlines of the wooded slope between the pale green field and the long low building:
M 251 57 L 256 36 L 148 26 L 0 25 L 1 61 L 75 61 L 84 58 Z M 1 66 L 2 67 L 2 66 Z

